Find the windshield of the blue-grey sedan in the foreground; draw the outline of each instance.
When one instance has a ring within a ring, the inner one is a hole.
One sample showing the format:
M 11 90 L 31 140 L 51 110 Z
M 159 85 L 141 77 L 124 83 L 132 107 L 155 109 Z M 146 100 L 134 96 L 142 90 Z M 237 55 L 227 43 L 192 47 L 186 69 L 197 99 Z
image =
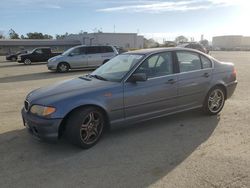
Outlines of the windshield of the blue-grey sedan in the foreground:
M 102 65 L 94 72 L 91 76 L 102 77 L 103 80 L 120 82 L 122 78 L 137 64 L 143 55 L 138 54 L 121 54 L 111 60 L 106 64 Z

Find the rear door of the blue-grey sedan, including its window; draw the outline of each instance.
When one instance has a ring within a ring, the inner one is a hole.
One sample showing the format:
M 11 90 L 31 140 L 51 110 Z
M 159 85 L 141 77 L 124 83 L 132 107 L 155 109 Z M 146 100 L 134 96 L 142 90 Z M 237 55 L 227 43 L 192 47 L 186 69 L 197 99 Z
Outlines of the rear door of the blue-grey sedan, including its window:
M 212 63 L 203 55 L 191 51 L 176 51 L 179 65 L 178 105 L 192 108 L 203 103 L 210 86 Z

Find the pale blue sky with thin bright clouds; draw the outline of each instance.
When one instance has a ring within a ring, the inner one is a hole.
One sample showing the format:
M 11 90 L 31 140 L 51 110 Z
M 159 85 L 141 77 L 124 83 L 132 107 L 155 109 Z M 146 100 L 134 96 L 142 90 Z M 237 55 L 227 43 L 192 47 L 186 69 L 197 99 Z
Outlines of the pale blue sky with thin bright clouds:
M 158 42 L 184 35 L 250 36 L 248 0 L 1 0 L 0 32 L 129 32 Z

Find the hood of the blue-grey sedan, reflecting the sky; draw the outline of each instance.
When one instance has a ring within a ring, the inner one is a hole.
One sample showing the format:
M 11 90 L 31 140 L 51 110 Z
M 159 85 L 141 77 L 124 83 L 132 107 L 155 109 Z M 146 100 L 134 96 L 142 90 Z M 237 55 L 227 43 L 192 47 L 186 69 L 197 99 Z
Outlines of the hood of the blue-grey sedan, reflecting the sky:
M 109 86 L 114 84 L 117 83 L 102 81 L 95 78 L 79 77 L 36 89 L 30 92 L 26 99 L 30 103 L 55 101 L 74 97 L 75 95 L 83 95 L 85 93 L 97 91 L 102 88 L 109 88 Z

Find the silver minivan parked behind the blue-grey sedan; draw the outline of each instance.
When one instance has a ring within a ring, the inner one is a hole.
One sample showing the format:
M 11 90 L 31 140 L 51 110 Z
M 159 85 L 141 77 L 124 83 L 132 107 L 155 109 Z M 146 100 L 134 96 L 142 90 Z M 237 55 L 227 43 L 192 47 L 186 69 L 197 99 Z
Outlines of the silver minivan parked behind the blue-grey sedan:
M 67 72 L 70 69 L 96 68 L 118 54 L 113 46 L 76 46 L 48 60 L 48 69 Z

